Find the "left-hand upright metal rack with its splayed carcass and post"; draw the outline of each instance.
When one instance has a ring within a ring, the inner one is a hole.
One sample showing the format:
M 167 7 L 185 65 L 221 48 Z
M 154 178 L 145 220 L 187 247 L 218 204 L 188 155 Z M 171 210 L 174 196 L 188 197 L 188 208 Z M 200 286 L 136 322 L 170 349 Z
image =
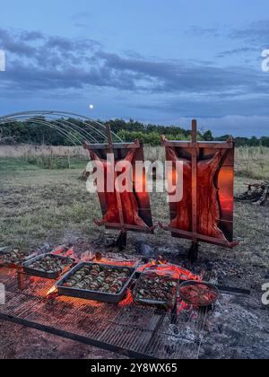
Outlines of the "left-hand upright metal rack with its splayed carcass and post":
M 148 233 L 154 231 L 150 197 L 146 189 L 145 171 L 143 170 L 143 175 L 140 177 L 143 180 L 142 191 L 135 190 L 132 176 L 129 176 L 130 178 L 126 182 L 126 187 L 131 185 L 131 190 L 122 192 L 117 188 L 118 172 L 115 171 L 117 164 L 130 162 L 134 167 L 136 161 L 143 162 L 143 145 L 140 145 L 137 140 L 129 144 L 113 144 L 109 126 L 107 127 L 107 134 L 108 145 L 84 143 L 84 148 L 89 151 L 91 161 L 95 162 L 96 166 L 100 165 L 100 168 L 104 171 L 104 192 L 98 190 L 103 217 L 95 223 L 99 226 L 104 225 L 108 229 L 120 230 L 114 246 L 118 246 L 119 250 L 124 250 L 128 231 Z M 114 156 L 115 164 L 109 160 L 108 153 Z M 126 177 L 128 177 L 128 171 L 126 171 Z

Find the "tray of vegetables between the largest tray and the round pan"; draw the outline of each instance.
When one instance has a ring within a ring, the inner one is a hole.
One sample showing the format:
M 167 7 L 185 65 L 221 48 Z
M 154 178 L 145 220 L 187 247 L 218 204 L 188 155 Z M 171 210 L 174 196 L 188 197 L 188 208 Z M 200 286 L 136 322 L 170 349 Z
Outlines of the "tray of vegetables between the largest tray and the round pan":
M 134 302 L 172 309 L 177 301 L 179 274 L 167 267 L 146 268 L 134 286 Z

